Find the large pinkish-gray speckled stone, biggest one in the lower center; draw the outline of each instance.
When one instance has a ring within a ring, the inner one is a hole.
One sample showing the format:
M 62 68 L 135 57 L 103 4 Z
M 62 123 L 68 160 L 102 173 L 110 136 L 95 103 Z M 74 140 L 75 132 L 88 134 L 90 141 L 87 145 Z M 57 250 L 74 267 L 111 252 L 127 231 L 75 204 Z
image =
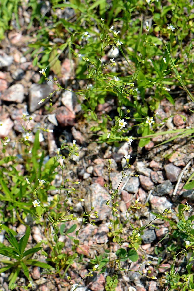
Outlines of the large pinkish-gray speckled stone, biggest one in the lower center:
M 102 221 L 109 217 L 110 209 L 105 203 L 110 197 L 107 190 L 98 183 L 88 187 L 84 205 L 86 211 L 90 211 L 92 206 L 94 206 L 94 211 L 98 211 L 98 218 L 95 221 Z

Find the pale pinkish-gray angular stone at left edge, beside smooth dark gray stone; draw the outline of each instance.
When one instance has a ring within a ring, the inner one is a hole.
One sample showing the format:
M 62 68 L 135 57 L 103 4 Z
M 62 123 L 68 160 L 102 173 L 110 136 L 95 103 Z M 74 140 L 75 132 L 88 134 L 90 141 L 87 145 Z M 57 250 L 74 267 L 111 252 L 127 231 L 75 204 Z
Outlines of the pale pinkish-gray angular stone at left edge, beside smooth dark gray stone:
M 22 103 L 24 100 L 24 86 L 21 84 L 10 86 L 3 92 L 1 99 L 8 102 Z

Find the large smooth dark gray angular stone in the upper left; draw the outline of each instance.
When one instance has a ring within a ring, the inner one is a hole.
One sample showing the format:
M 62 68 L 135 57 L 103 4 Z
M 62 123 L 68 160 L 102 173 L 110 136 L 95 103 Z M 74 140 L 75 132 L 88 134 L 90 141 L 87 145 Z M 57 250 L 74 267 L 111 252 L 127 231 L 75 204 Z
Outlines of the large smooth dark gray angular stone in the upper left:
M 38 102 L 48 97 L 51 91 L 50 86 L 47 84 L 32 84 L 29 89 L 29 111 L 34 112 L 36 109 L 45 105 L 45 102 L 50 101 L 50 98 L 48 98 L 38 105 Z

